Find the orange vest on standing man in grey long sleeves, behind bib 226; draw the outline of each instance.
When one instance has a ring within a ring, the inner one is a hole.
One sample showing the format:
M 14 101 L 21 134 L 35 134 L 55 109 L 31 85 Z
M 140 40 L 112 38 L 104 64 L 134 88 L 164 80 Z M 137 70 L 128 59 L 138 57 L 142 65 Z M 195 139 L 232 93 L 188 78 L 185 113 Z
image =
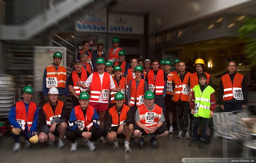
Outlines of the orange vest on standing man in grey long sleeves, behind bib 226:
M 138 85 L 138 89 L 136 88 L 136 79 L 132 79 L 131 83 L 131 99 L 130 103 L 133 106 L 135 104 L 136 99 L 136 105 L 142 105 L 144 103 L 144 79 L 140 79 L 140 83 Z

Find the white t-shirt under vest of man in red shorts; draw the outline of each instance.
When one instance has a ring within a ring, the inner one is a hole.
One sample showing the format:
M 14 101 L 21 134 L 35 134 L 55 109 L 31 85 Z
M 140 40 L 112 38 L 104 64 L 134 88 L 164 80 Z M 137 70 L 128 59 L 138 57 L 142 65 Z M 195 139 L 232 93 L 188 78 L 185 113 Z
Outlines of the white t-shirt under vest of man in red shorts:
M 104 73 L 107 73 L 107 72 L 104 72 Z M 102 81 L 103 81 L 104 73 L 101 74 L 101 75 L 99 74 L 101 86 L 102 86 Z M 108 73 L 107 73 L 107 74 L 108 74 Z M 87 80 L 86 80 L 85 83 L 84 83 L 87 88 L 89 88 L 89 87 L 91 86 L 91 84 L 92 84 L 92 75 L 93 75 L 93 73 L 89 76 L 89 78 L 87 78 Z M 109 78 L 110 78 L 110 89 L 113 89 L 113 88 L 116 87 L 116 85 L 115 85 L 115 83 L 114 83 L 113 78 L 111 77 L 111 75 L 110 75 L 110 74 L 108 74 L 108 75 L 109 75 Z M 102 87 L 101 87 L 101 89 L 102 89 Z M 109 94 L 109 96 L 110 96 L 110 94 Z M 109 98 L 109 97 L 108 97 L 108 98 Z M 108 103 L 108 101 L 103 101 L 102 93 L 100 93 L 100 97 L 99 97 L 99 100 L 98 100 L 98 101 L 90 100 L 90 102 Z

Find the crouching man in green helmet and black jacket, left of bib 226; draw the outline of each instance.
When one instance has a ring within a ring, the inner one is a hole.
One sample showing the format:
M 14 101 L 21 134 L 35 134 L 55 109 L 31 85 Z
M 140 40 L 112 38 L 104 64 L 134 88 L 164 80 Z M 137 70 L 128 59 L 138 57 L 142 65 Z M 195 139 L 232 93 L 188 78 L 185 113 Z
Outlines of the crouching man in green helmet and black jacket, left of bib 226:
M 133 133 L 133 116 L 130 108 L 124 104 L 124 94 L 117 92 L 116 105 L 106 113 L 104 130 L 109 141 L 113 142 L 113 148 L 119 148 L 118 138 L 125 138 L 124 151 L 131 152 L 130 139 Z

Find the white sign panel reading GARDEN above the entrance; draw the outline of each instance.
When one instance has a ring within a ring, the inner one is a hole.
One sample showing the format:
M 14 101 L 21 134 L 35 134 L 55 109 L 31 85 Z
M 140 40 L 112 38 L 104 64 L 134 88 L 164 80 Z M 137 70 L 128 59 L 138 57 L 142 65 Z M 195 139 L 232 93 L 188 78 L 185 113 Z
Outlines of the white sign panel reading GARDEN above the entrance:
M 144 16 L 108 15 L 109 33 L 144 34 Z

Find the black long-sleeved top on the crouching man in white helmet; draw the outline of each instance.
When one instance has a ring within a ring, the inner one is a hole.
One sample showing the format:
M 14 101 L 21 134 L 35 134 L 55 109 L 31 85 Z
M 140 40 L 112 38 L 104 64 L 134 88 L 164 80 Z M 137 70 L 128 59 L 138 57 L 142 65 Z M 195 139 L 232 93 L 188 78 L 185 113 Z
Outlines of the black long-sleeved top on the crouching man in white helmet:
M 52 107 L 53 113 L 55 113 L 55 109 L 56 109 L 57 105 L 53 106 L 51 104 L 51 102 L 50 102 L 50 106 Z M 64 104 L 63 107 L 62 107 L 62 110 L 61 110 L 60 118 L 57 119 L 55 121 L 55 123 L 57 123 L 59 125 L 61 122 L 66 122 L 67 118 L 68 118 L 68 109 L 67 109 L 66 105 Z M 49 129 L 49 127 L 46 124 L 46 115 L 44 113 L 44 109 L 43 108 L 40 109 L 40 111 L 39 111 L 39 126 L 40 126 L 40 128 L 42 129 L 42 131 L 44 133 L 46 133 L 46 134 L 50 133 L 50 129 Z

